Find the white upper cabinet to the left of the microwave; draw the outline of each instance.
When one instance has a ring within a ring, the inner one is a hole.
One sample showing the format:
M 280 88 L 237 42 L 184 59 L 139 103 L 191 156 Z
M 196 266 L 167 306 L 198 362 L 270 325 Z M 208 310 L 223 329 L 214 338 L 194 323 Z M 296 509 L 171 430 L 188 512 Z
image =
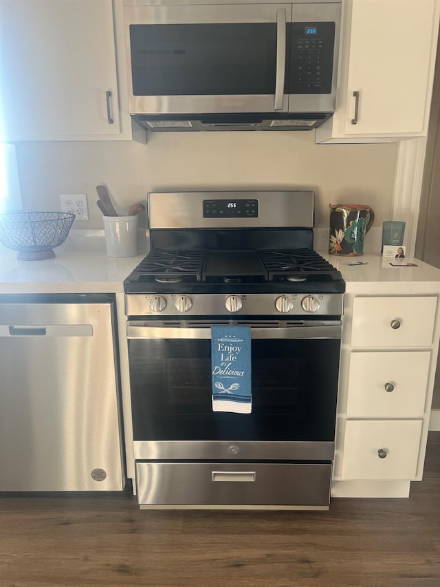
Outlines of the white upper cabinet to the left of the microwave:
M 3 140 L 132 138 L 112 0 L 0 0 Z

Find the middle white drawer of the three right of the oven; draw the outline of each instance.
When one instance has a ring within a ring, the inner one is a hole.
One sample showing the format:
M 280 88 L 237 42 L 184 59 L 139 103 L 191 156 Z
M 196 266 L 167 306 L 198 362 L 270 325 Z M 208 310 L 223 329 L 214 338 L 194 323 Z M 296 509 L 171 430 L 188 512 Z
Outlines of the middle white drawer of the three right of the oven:
M 353 352 L 347 417 L 423 416 L 431 353 Z

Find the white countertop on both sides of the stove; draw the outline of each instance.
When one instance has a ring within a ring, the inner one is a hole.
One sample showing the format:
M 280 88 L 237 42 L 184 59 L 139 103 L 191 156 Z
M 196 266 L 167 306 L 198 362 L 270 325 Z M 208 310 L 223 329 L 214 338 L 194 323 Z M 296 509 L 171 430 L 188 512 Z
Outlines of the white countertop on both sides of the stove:
M 14 250 L 0 246 L 0 294 L 118 293 L 123 281 L 148 252 L 148 241 L 136 257 L 107 257 L 104 231 L 73 230 L 53 259 L 18 261 Z M 418 259 L 416 267 L 393 267 L 379 254 L 338 257 L 318 250 L 342 273 L 347 293 L 440 292 L 440 269 Z M 364 265 L 353 265 L 362 262 Z

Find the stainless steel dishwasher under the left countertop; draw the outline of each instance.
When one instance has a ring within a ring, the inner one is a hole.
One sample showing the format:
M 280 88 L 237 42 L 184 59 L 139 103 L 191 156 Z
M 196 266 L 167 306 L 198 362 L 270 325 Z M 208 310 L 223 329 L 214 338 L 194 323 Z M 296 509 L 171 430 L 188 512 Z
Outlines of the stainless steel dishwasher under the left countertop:
M 115 325 L 111 295 L 0 296 L 0 491 L 124 489 Z

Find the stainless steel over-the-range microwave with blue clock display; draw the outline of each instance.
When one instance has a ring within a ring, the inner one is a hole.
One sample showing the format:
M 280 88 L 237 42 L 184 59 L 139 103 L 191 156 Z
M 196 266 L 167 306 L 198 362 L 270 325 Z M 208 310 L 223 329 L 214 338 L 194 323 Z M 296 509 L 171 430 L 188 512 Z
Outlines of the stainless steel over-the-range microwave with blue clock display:
M 336 103 L 341 2 L 124 0 L 130 113 L 146 129 L 312 129 Z

